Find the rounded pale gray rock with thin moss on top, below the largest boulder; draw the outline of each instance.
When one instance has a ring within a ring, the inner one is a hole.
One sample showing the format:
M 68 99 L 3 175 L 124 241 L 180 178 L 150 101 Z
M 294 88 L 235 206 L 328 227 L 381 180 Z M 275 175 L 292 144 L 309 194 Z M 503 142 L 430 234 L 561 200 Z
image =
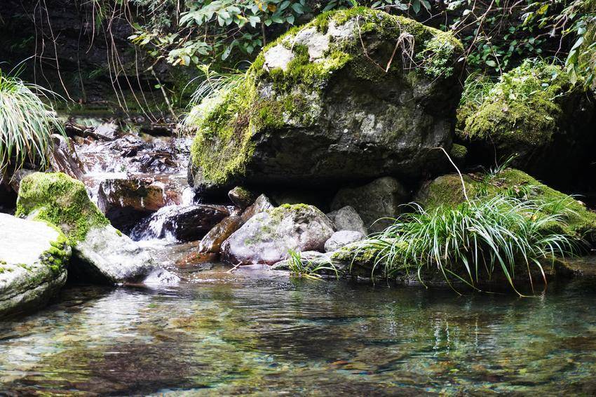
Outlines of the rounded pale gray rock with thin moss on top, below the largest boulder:
M 275 264 L 288 250 L 323 251 L 333 224 L 316 207 L 284 205 L 258 213 L 222 244 L 231 264 Z

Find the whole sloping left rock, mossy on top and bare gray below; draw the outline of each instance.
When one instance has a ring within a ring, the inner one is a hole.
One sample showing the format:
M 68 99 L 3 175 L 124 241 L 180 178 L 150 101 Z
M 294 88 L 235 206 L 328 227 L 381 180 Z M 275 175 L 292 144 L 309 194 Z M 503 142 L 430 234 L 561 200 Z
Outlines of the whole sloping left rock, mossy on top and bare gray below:
M 16 215 L 62 230 L 73 250 L 69 278 L 121 283 L 142 281 L 159 271 L 147 252 L 109 224 L 85 185 L 66 174 L 34 173 L 23 178 Z

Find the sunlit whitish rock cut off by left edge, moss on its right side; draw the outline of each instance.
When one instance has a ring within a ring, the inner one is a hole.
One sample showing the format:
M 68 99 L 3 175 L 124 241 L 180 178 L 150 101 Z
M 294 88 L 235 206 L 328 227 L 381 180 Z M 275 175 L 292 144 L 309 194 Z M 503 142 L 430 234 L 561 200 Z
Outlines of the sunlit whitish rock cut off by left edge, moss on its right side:
M 60 231 L 0 214 L 0 317 L 46 304 L 66 282 L 70 255 Z

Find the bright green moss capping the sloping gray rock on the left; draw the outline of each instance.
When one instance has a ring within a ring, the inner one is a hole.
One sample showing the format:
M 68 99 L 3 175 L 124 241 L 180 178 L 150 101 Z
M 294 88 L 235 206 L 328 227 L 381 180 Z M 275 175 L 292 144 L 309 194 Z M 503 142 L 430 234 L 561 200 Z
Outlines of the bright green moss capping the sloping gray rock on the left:
M 82 241 L 92 227 L 109 224 L 90 201 L 83 182 L 63 173 L 34 173 L 23 178 L 15 215 L 33 215 L 54 225 L 65 233 L 70 245 Z

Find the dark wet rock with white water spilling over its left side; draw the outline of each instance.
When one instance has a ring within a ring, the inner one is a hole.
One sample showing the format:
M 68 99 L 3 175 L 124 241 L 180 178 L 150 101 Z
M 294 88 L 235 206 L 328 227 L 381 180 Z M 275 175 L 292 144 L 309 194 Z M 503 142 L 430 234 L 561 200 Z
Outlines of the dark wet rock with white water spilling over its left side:
M 196 241 L 229 215 L 229 209 L 224 206 L 168 206 L 137 224 L 131 236 L 136 240 L 168 238 Z

